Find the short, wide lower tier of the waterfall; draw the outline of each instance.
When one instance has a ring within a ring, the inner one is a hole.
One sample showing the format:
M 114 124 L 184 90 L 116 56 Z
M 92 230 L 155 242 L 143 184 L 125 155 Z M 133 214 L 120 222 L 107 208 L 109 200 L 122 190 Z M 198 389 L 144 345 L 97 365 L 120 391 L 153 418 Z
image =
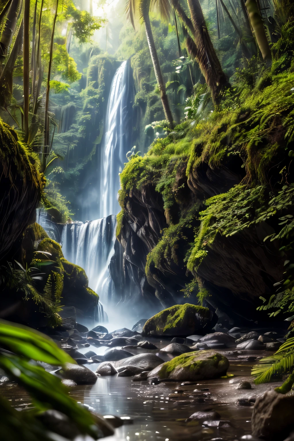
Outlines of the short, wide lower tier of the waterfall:
M 114 252 L 116 217 L 66 224 L 62 232 L 64 257 L 85 269 L 89 287 L 105 301 L 108 265 Z

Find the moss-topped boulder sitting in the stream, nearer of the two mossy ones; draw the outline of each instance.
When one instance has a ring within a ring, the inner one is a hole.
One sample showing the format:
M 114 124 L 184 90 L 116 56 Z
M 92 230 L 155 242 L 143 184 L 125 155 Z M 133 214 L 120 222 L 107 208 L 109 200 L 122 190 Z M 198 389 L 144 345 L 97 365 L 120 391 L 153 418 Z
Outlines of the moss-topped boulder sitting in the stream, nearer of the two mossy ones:
M 229 360 L 212 351 L 188 352 L 157 366 L 148 377 L 175 381 L 211 380 L 227 374 Z

